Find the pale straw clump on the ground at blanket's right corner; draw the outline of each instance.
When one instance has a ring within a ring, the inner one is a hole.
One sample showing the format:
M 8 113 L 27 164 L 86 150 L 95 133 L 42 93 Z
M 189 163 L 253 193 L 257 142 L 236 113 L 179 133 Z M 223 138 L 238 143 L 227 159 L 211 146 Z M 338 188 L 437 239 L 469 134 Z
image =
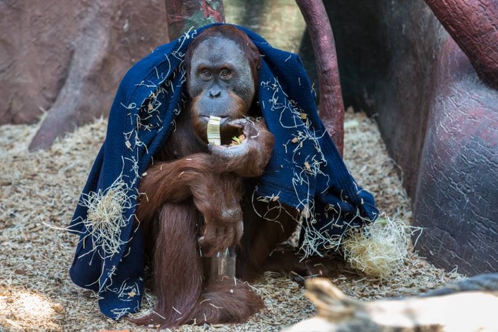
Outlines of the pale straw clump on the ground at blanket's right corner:
M 353 229 L 345 238 L 344 258 L 367 276 L 388 279 L 404 270 L 415 229 L 403 221 L 379 217 L 369 226 Z

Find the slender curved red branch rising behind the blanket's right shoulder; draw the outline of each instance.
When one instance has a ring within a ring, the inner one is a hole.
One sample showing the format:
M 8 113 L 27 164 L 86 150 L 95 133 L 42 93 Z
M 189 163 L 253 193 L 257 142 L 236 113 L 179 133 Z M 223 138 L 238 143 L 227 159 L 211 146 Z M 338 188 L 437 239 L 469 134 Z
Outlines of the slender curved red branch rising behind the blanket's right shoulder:
M 320 117 L 342 155 L 344 146 L 344 102 L 339 80 L 336 46 L 329 17 L 322 1 L 296 0 L 315 53 L 320 85 Z

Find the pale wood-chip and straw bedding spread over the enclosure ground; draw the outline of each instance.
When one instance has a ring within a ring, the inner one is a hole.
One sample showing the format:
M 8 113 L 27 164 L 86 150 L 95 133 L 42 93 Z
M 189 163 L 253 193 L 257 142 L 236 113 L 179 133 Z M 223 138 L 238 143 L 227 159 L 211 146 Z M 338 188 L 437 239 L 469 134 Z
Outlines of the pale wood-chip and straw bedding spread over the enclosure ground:
M 97 120 L 58 141 L 48 151 L 28 153 L 35 125 L 0 127 L 0 331 L 98 331 L 137 329 L 104 317 L 90 291 L 68 277 L 77 237 L 52 229 L 68 225 L 93 159 L 104 139 L 106 121 Z M 409 222 L 411 211 L 398 168 L 387 156 L 376 125 L 364 114 L 346 114 L 345 160 L 358 183 L 373 192 L 387 216 Z M 423 236 L 423 234 L 422 234 Z M 346 294 L 369 301 L 417 294 L 459 276 L 410 254 L 402 273 L 380 282 L 344 266 L 333 282 Z M 216 331 L 279 331 L 310 317 L 313 306 L 290 279 L 266 273 L 254 285 L 267 310 L 248 323 L 212 327 Z M 146 293 L 143 309 L 153 296 Z M 178 331 L 204 331 L 182 327 Z

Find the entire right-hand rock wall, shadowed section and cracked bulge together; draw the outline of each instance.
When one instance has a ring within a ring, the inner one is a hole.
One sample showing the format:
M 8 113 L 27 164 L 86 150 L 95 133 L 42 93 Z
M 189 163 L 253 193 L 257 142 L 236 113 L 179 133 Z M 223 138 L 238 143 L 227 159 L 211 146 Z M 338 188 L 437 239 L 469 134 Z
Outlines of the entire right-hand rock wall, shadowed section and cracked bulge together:
M 417 249 L 447 269 L 498 271 L 497 91 L 424 1 L 325 3 L 345 105 L 377 119 L 403 170 L 426 228 Z

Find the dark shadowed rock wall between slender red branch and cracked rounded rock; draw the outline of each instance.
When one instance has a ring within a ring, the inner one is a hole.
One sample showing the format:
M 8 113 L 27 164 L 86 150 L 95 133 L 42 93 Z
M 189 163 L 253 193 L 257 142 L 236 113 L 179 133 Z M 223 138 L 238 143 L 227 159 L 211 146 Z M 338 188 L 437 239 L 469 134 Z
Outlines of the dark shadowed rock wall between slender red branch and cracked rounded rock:
M 435 56 L 448 37 L 422 0 L 325 1 L 339 59 L 344 104 L 378 119 L 403 183 L 415 195 Z M 313 80 L 313 51 L 300 53 Z

